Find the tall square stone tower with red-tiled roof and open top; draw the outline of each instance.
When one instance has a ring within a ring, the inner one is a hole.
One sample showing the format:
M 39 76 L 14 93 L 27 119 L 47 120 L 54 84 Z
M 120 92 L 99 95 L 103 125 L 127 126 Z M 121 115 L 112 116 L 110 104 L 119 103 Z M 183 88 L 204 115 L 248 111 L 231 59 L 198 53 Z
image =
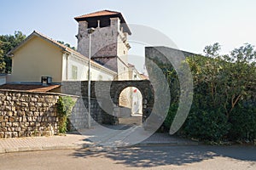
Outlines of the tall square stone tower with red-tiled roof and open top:
M 91 59 L 118 73 L 118 80 L 128 79 L 127 42 L 131 35 L 129 27 L 121 13 L 102 10 L 74 18 L 79 22 L 78 52 L 89 56 L 89 28 L 95 28 L 91 34 Z

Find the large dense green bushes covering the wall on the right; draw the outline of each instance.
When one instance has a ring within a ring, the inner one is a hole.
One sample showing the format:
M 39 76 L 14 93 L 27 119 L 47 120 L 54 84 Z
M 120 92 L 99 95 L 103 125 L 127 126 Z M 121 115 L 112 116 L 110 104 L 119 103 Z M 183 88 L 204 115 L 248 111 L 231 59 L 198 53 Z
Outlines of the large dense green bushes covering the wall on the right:
M 218 54 L 218 43 L 204 49 L 205 56 L 186 59 L 194 82 L 189 116 L 178 132 L 207 141 L 256 139 L 256 51 L 250 44 L 230 54 Z M 170 82 L 172 104 L 164 122 L 170 127 L 178 106 L 178 79 L 170 65 L 162 65 Z

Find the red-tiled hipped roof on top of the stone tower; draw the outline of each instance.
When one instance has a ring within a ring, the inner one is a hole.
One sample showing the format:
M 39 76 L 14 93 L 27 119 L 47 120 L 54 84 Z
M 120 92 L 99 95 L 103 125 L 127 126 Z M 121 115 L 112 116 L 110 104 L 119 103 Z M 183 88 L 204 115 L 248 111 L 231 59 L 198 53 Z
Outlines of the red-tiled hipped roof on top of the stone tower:
M 124 31 L 127 32 L 129 35 L 131 35 L 131 30 L 127 26 L 125 22 L 125 18 L 120 12 L 117 12 L 117 11 L 101 10 L 101 11 L 96 11 L 90 14 L 83 14 L 81 16 L 75 17 L 74 19 L 77 20 L 78 22 L 82 20 L 86 20 L 90 25 L 90 23 L 92 22 L 96 23 L 97 20 L 101 20 L 101 19 L 110 20 L 110 18 L 115 18 L 115 17 L 118 17 L 120 20 L 120 23 L 123 24 Z

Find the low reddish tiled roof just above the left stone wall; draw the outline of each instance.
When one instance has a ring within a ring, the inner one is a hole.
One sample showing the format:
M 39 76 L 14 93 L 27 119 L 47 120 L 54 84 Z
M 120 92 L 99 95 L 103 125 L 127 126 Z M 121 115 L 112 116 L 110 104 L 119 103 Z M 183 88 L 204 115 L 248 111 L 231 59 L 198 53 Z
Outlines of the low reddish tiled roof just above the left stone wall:
M 43 86 L 39 84 L 3 84 L 0 89 L 12 89 L 12 90 L 22 90 L 27 92 L 49 92 L 55 88 L 59 88 L 61 85 L 49 85 Z

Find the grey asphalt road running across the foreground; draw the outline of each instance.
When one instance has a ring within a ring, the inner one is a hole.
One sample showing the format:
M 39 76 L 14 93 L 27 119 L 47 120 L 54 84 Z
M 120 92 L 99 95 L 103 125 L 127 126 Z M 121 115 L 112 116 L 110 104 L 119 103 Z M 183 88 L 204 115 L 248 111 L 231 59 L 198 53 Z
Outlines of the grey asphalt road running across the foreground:
M 48 150 L 0 155 L 0 169 L 256 169 L 253 146 Z

